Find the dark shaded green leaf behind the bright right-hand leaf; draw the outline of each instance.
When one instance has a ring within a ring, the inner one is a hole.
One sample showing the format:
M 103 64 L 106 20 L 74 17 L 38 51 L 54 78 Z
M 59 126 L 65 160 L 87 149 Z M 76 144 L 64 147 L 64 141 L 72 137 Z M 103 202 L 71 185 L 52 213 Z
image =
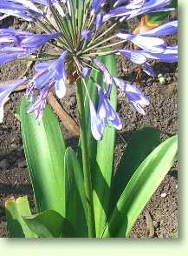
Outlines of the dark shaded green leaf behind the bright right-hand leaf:
M 134 131 L 128 140 L 120 165 L 114 175 L 112 198 L 117 203 L 127 183 L 144 159 L 161 143 L 160 131 L 152 127 L 142 127 Z

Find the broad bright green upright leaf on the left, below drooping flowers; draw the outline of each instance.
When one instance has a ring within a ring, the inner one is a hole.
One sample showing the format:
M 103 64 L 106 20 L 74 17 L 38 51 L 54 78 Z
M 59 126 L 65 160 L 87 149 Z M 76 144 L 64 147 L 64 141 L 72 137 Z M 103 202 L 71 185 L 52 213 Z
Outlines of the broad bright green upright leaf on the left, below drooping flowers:
M 38 212 L 51 209 L 64 215 L 65 144 L 58 119 L 47 106 L 39 125 L 34 114 L 27 114 L 23 98 L 20 110 L 24 152 Z

